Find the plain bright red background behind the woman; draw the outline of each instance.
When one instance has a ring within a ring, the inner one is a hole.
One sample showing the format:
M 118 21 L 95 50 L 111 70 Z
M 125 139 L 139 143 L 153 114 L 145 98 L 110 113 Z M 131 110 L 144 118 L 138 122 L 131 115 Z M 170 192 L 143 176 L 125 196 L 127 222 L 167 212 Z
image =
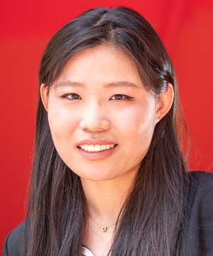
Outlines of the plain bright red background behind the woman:
M 213 171 L 213 1 L 4 1 L 0 15 L 0 246 L 23 220 L 43 50 L 53 33 L 83 11 L 119 5 L 139 11 L 165 44 L 178 76 L 192 139 L 190 170 Z

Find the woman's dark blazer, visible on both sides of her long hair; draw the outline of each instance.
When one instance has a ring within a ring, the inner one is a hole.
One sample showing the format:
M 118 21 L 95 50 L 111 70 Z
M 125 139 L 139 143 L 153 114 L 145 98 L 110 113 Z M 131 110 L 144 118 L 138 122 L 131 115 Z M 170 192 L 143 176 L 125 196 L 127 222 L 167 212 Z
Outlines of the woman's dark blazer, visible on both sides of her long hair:
M 187 203 L 180 256 L 213 256 L 213 173 L 190 172 Z M 22 256 L 24 228 L 25 221 L 8 233 L 3 256 Z

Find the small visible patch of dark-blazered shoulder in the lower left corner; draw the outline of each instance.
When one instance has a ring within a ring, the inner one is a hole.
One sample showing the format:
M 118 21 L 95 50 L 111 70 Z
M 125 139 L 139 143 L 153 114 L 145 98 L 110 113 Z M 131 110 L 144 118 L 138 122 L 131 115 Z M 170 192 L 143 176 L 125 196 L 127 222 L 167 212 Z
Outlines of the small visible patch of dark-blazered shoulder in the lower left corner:
M 13 228 L 4 240 L 3 256 L 19 256 L 21 255 L 21 247 L 23 245 L 24 230 L 26 221 L 23 220 L 16 228 Z

